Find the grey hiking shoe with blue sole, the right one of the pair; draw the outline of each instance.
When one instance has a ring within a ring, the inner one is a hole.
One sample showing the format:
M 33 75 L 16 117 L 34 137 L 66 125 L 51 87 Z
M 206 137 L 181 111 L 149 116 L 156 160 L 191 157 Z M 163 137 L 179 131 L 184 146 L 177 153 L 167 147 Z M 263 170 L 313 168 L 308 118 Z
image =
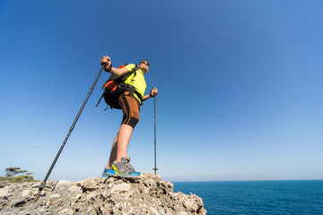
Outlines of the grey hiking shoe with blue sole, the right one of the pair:
M 140 172 L 136 172 L 135 168 L 129 163 L 129 157 L 122 157 L 120 161 L 113 162 L 111 168 L 115 171 L 116 176 L 140 176 Z M 109 172 L 109 171 L 108 171 Z

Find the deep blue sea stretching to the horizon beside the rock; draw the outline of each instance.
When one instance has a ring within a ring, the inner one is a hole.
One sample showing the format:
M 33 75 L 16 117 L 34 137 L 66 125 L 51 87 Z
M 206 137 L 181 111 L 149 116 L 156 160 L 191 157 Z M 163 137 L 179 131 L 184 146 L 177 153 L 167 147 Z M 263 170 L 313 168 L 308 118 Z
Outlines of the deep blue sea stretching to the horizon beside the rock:
M 200 196 L 208 215 L 323 215 L 323 180 L 173 184 L 174 192 Z

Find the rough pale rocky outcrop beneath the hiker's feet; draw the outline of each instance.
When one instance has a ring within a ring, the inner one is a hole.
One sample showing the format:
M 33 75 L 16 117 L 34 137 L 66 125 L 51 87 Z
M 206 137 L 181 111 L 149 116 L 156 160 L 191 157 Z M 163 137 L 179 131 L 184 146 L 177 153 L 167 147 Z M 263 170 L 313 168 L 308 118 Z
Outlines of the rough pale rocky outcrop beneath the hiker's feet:
M 173 193 L 162 177 L 138 179 L 94 177 L 83 181 L 48 181 L 34 201 L 40 183 L 6 184 L 0 188 L 0 214 L 205 214 L 195 194 Z

